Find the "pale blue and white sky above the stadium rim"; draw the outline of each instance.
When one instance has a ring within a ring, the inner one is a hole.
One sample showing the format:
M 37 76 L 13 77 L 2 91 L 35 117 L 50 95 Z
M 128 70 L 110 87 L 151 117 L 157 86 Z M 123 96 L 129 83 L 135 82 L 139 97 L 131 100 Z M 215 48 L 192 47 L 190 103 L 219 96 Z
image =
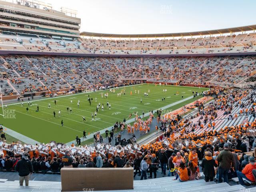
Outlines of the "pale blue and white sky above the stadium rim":
M 81 31 L 192 32 L 256 24 L 255 0 L 44 0 L 78 10 Z M 70 2 L 72 2 L 70 4 Z

